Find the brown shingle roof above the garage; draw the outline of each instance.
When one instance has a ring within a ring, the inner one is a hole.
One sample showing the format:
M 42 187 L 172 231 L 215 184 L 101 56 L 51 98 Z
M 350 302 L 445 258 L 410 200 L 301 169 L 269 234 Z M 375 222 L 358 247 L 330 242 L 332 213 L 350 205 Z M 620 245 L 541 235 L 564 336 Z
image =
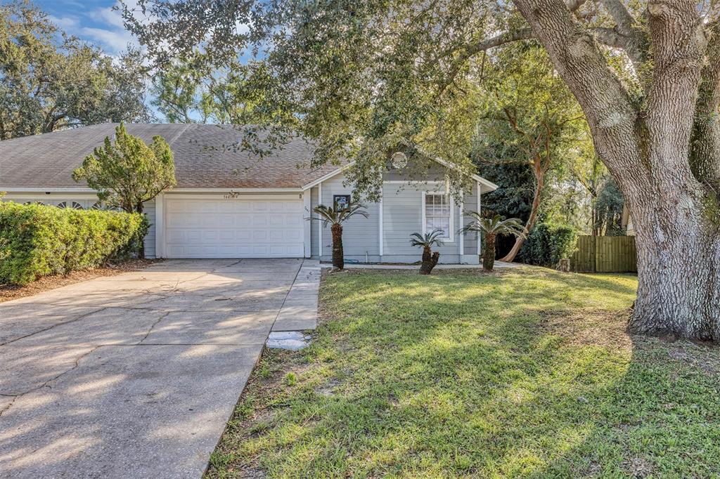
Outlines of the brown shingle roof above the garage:
M 310 168 L 312 147 L 300 138 L 272 155 L 258 158 L 222 147 L 240 132 L 208 124 L 126 124 L 127 132 L 145 142 L 159 134 L 175 157 L 176 188 L 300 188 L 338 166 Z M 67 129 L 0 141 L 0 191 L 11 188 L 78 188 L 71 178 L 94 147 L 111 137 L 117 124 Z

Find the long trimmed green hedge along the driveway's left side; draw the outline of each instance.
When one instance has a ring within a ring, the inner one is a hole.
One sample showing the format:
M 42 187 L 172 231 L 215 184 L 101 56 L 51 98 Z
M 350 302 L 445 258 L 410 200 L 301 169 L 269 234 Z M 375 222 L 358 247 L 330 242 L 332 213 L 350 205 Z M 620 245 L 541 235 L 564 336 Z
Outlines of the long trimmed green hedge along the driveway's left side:
M 25 284 L 126 259 L 147 231 L 141 214 L 0 201 L 0 283 Z

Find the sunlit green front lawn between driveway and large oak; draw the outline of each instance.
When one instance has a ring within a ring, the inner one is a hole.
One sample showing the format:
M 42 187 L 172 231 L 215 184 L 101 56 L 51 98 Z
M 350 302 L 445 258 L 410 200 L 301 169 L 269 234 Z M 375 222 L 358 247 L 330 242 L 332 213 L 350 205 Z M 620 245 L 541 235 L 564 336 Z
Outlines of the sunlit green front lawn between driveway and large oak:
M 720 475 L 720 352 L 630 337 L 631 275 L 328 275 L 266 352 L 207 475 Z M 260 476 L 261 477 L 261 476 Z

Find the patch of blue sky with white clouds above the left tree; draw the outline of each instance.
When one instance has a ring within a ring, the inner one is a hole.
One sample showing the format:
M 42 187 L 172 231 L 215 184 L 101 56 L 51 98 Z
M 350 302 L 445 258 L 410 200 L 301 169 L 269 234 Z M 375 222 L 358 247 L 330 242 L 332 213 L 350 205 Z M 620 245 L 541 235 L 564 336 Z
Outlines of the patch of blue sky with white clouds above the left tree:
M 136 45 L 122 27 L 119 12 L 112 10 L 116 3 L 117 0 L 35 0 L 60 29 L 101 47 L 109 55 L 125 50 L 128 43 Z

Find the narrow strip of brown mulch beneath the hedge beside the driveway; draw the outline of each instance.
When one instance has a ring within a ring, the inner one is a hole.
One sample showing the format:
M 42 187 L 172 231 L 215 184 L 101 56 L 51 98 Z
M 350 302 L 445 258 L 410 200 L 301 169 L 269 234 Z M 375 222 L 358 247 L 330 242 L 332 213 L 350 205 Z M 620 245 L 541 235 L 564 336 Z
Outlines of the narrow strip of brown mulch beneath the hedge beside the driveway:
M 91 270 L 71 271 L 71 273 L 66 275 L 45 276 L 24 286 L 0 284 L 0 303 L 11 301 L 12 299 L 24 298 L 25 296 L 32 296 L 37 293 L 42 293 L 43 291 L 68 286 L 69 284 L 99 278 L 100 276 L 114 276 L 127 273 L 128 271 L 142 270 L 148 265 L 158 263 L 158 261 L 161 260 L 129 260 L 124 263 L 104 265 Z

